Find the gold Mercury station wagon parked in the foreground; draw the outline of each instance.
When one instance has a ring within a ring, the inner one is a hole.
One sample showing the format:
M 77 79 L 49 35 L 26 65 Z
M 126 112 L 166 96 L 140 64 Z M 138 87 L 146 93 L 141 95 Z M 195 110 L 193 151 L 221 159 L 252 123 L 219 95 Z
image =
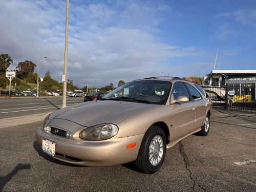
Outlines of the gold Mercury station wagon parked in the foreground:
M 152 174 L 162 166 L 166 148 L 196 132 L 207 136 L 211 107 L 194 82 L 144 78 L 100 100 L 53 112 L 37 129 L 36 140 L 42 151 L 60 161 L 85 166 L 134 161 L 139 170 Z

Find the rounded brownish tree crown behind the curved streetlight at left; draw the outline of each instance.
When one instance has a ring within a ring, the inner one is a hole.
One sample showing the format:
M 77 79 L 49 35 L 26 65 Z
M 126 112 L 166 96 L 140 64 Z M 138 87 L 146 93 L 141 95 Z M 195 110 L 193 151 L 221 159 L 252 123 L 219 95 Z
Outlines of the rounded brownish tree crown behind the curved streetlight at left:
M 34 73 L 35 67 L 36 65 L 32 61 L 25 60 L 24 62 L 19 62 L 16 67 L 18 69 L 17 76 L 20 79 L 25 79 L 29 73 Z

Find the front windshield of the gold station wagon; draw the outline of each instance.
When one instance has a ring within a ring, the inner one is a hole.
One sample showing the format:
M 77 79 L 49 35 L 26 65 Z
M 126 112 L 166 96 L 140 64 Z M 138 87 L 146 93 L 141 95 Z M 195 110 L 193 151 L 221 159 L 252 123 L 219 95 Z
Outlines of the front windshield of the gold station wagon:
M 133 81 L 104 95 L 103 99 L 165 104 L 171 87 L 169 81 Z

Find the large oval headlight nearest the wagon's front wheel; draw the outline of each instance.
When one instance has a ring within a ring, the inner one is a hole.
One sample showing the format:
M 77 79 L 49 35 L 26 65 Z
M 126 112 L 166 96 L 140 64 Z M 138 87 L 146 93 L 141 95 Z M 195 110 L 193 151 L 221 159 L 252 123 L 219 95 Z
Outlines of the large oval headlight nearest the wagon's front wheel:
M 114 124 L 98 124 L 84 129 L 79 137 L 85 140 L 100 141 L 110 139 L 118 133 L 118 127 Z

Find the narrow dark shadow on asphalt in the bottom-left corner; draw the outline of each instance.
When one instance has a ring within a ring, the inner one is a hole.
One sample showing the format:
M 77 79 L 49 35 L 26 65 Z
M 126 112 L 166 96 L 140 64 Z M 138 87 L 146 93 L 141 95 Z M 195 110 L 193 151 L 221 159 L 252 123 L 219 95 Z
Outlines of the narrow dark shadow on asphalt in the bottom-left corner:
M 12 170 L 11 173 L 9 173 L 8 175 L 4 176 L 4 177 L 0 177 L 0 191 L 3 191 L 3 188 L 5 187 L 5 185 L 12 179 L 13 176 L 15 176 L 20 170 L 23 169 L 30 169 L 31 166 L 30 164 L 22 164 L 19 163 L 17 164 L 14 169 Z

